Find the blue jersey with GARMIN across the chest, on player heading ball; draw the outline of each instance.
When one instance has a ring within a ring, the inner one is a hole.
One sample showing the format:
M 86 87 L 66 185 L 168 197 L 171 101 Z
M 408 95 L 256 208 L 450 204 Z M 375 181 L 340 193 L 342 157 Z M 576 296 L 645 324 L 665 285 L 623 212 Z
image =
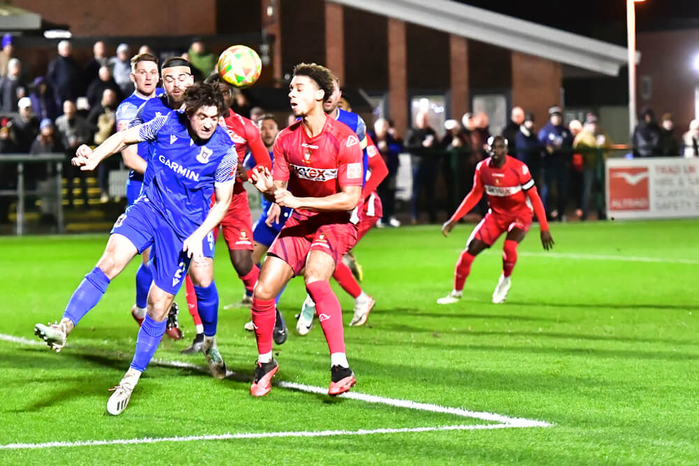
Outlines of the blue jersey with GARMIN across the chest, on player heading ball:
M 138 138 L 151 147 L 143 201 L 150 201 L 175 233 L 187 238 L 206 219 L 215 186 L 236 180 L 236 147 L 221 126 L 208 140 L 196 142 L 183 112 L 155 117 L 141 126 Z

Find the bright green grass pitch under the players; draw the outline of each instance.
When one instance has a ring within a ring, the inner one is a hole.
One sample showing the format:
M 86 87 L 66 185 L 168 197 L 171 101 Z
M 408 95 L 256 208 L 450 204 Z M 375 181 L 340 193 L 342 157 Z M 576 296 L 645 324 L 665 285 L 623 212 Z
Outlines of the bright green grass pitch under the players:
M 490 303 L 500 240 L 476 259 L 461 302 L 438 306 L 471 228 L 460 224 L 447 239 L 438 226 L 374 230 L 356 247 L 363 288 L 377 304 L 366 326 L 345 328 L 358 380 L 352 393 L 549 427 L 489 428 L 498 421 L 331 399 L 284 384 L 252 398 L 257 351 L 254 335 L 243 330 L 250 312 L 222 310 L 243 290 L 222 243 L 215 261 L 219 348 L 236 377 L 215 380 L 167 365 L 206 365 L 201 355 L 180 354 L 193 336 L 180 293 L 185 338 L 161 343 L 155 358 L 163 364 L 148 368 L 123 414 L 109 416 L 107 389 L 122 377 L 136 344 L 129 310 L 138 261 L 113 280 L 70 346 L 55 354 L 8 335 L 38 342 L 34 323 L 60 318 L 106 235 L 0 238 L 0 463 L 696 463 L 699 221 L 552 224 L 550 253 L 534 226 L 519 247 L 505 304 Z M 347 323 L 352 300 L 333 287 Z M 280 301 L 290 335 L 275 346 L 275 380 L 326 389 L 329 354 L 319 325 L 306 337 L 293 330 L 304 296 L 294 279 Z M 454 425 L 473 430 L 408 431 Z M 381 429 L 388 431 L 368 433 Z M 350 433 L 317 433 L 326 431 Z M 46 442 L 66 444 L 34 448 Z

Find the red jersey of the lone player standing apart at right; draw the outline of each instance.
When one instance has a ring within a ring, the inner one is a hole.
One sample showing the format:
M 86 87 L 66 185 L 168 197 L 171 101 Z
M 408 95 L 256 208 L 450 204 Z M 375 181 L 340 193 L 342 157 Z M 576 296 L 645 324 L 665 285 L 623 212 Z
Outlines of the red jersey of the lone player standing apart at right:
M 489 207 L 496 214 L 531 212 L 531 203 L 524 190 L 533 187 L 534 180 L 526 164 L 510 156 L 506 156 L 501 168 L 491 166 L 490 161 L 490 158 L 485 159 L 476 166 L 474 191 L 485 193 Z

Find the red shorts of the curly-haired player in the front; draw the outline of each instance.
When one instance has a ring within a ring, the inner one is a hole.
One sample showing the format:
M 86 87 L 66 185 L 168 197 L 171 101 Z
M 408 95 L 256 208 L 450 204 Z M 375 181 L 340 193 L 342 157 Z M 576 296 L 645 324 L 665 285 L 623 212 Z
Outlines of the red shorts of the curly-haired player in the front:
M 269 247 L 267 254 L 277 256 L 298 275 L 305 267 L 308 253 L 322 251 L 338 263 L 342 256 L 356 244 L 356 225 L 324 224 L 314 217 L 296 219 L 289 217 L 284 228 Z

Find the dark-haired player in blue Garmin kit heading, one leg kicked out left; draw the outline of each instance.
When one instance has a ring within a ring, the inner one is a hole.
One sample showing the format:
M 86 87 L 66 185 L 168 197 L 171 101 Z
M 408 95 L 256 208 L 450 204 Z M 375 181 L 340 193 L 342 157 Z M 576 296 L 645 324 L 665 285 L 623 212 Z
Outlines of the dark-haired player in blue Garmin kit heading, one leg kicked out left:
M 140 375 L 150 362 L 166 330 L 167 316 L 184 282 L 190 261 L 201 263 L 203 240 L 228 210 L 236 177 L 238 155 L 226 131 L 219 126 L 224 109 L 218 88 L 192 85 L 185 92 L 184 112 L 170 112 L 140 126 L 119 131 L 91 150 L 78 147 L 72 163 L 94 170 L 106 157 L 124 147 L 150 141 L 145 185 L 141 196 L 120 216 L 111 231 L 104 254 L 85 275 L 69 300 L 59 323 L 37 323 L 34 333 L 55 351 L 107 290 L 109 282 L 147 247 L 156 257 L 147 312 L 138 331 L 131 367 L 107 402 L 110 414 L 124 411 Z M 211 197 L 215 202 L 210 206 Z M 196 277 L 192 277 L 196 283 Z M 214 327 L 217 316 L 201 316 Z M 208 333 L 207 333 L 208 334 Z

